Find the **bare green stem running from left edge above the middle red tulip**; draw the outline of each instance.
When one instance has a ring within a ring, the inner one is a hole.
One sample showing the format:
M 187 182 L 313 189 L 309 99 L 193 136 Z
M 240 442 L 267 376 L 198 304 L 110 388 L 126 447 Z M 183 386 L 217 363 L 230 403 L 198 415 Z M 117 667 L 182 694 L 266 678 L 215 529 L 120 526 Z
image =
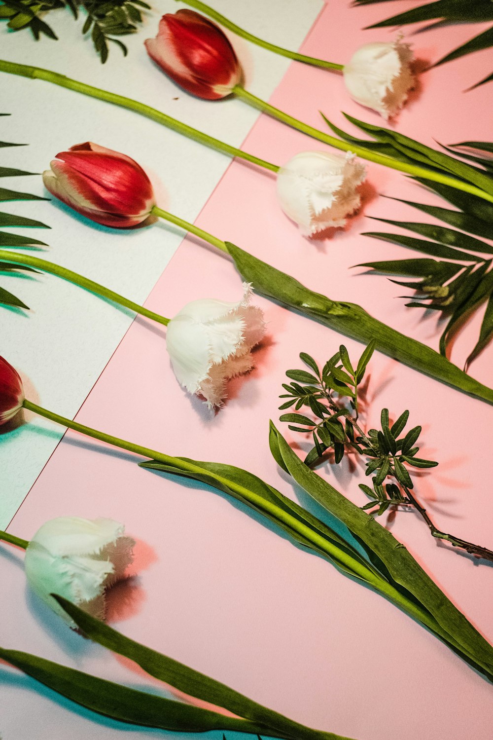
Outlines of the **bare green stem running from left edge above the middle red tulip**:
M 132 98 L 126 98 L 123 95 L 116 95 L 115 92 L 101 90 L 99 87 L 86 85 L 84 82 L 72 80 L 65 75 L 60 75 L 56 72 L 51 72 L 50 70 L 44 70 L 41 69 L 41 67 L 30 67 L 28 64 L 17 64 L 14 61 L 0 60 L 0 72 L 7 72 L 11 75 L 20 75 L 21 77 L 30 77 L 33 79 L 52 82 L 55 85 L 67 87 L 69 90 L 82 92 L 84 95 L 89 95 L 91 98 L 98 98 L 98 100 L 104 100 L 107 103 L 119 105 L 127 110 L 134 110 L 135 112 L 140 113 L 140 115 L 145 115 L 146 118 L 151 118 L 152 121 L 157 121 L 158 124 L 162 124 L 172 131 L 188 136 L 188 138 L 193 139 L 193 141 L 205 144 L 205 146 L 211 147 L 211 149 L 217 149 L 217 151 L 222 152 L 222 154 L 245 159 L 248 162 L 252 162 L 253 164 L 263 167 L 264 169 L 270 169 L 271 172 L 277 172 L 279 169 L 279 166 L 276 164 L 271 164 L 271 162 L 255 157 L 253 154 L 242 152 L 241 149 L 231 147 L 230 144 L 225 144 L 224 141 L 220 141 L 219 139 L 209 136 L 191 126 L 187 126 L 187 124 L 177 121 L 176 118 L 171 118 L 170 115 L 166 115 L 166 113 L 162 113 L 160 110 L 156 110 L 149 105 L 139 103 L 132 100 Z

